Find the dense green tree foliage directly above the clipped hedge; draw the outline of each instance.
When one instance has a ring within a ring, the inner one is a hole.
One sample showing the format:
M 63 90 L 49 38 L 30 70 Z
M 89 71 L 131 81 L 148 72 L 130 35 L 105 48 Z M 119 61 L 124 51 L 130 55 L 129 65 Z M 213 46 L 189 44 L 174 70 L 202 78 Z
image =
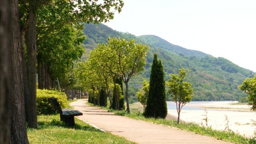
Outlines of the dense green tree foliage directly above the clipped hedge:
M 38 62 L 38 87 L 50 88 L 47 85 L 45 75 L 50 80 L 60 80 L 60 84 L 67 84 L 64 80 L 67 73 L 73 67 L 74 60 L 79 59 L 84 53 L 82 42 L 85 36 L 79 26 L 66 25 L 59 30 L 48 33 L 41 31 L 38 39 L 37 62 Z M 45 69 L 47 68 L 47 70 Z M 43 84 L 46 83 L 46 84 Z

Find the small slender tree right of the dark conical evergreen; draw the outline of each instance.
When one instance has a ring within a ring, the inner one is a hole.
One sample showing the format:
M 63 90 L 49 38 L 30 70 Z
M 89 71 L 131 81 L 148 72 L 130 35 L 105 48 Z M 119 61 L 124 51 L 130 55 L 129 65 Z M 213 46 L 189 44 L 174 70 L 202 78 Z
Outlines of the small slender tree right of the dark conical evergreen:
M 171 74 L 171 78 L 168 82 L 168 93 L 174 102 L 176 103 L 176 109 L 178 112 L 178 124 L 180 121 L 180 112 L 183 106 L 192 100 L 193 89 L 190 82 L 184 82 L 186 76 L 185 70 L 182 68 L 178 74 Z

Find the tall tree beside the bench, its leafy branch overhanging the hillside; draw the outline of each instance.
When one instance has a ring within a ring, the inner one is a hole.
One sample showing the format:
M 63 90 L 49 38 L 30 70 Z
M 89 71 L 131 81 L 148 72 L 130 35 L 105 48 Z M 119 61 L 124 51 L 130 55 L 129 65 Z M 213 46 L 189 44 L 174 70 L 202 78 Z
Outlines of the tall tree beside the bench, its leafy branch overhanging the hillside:
M 65 1 L 65 0 L 20 0 L 20 41 L 23 63 L 28 58 L 28 63 L 23 64 L 24 72 L 24 94 L 25 94 L 25 108 L 26 114 L 29 118 L 28 126 L 36 127 L 36 108 L 29 109 L 35 106 L 36 102 L 36 10 L 38 17 L 37 26 L 39 29 L 48 28 L 56 29 L 66 24 L 74 24 L 77 22 L 107 22 L 114 16 L 114 10 L 121 11 L 124 3 L 122 0 L 78 0 L 78 1 Z M 36 7 L 37 6 L 37 7 Z M 37 8 L 37 9 L 36 9 Z M 50 31 L 49 31 L 50 32 Z M 27 37 L 27 56 L 25 55 L 25 33 Z M 31 39 L 30 39 L 31 38 Z M 28 88 L 28 89 L 26 89 Z M 30 119 L 30 116 L 32 117 Z

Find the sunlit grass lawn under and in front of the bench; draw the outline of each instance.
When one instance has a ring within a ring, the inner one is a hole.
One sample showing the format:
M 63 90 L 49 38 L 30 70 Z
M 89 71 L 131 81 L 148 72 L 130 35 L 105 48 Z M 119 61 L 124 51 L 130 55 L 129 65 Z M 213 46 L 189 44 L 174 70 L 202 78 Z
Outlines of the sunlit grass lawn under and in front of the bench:
M 27 134 L 30 144 L 136 144 L 102 132 L 78 118 L 75 118 L 74 128 L 67 126 L 60 121 L 59 114 L 38 115 L 38 128 L 27 128 Z

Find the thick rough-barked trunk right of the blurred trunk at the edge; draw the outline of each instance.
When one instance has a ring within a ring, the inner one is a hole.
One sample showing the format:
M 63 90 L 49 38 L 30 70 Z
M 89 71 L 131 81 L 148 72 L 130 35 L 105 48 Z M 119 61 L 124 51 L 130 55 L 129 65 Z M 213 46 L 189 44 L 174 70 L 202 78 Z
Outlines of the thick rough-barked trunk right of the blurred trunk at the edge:
M 12 4 L 12 95 L 11 95 L 11 144 L 28 144 L 26 133 L 24 93 L 22 79 L 22 56 L 20 50 L 20 26 L 18 19 L 18 0 L 13 0 Z

